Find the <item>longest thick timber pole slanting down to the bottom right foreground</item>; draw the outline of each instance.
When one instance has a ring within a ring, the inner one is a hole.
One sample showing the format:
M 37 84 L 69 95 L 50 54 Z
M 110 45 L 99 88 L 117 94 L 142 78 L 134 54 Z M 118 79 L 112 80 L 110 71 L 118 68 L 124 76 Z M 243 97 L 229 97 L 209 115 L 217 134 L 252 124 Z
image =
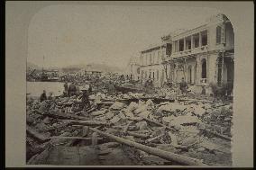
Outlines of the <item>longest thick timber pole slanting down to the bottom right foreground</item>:
M 206 164 L 203 164 L 200 160 L 195 159 L 195 158 L 180 156 L 178 154 L 173 154 L 171 152 L 160 150 L 158 148 L 151 148 L 151 147 L 142 145 L 140 143 L 136 143 L 136 142 L 128 140 L 128 139 L 123 139 L 123 138 L 120 138 L 120 137 L 116 137 L 112 134 L 105 133 L 101 130 L 96 130 L 96 129 L 93 129 L 93 128 L 90 128 L 90 130 L 95 131 L 98 134 L 101 134 L 101 135 L 103 135 L 103 136 L 105 136 L 109 139 L 114 139 L 118 143 L 122 143 L 122 144 L 128 145 L 130 147 L 140 149 L 140 150 L 142 150 L 144 152 L 147 152 L 147 153 L 149 153 L 153 156 L 161 157 L 161 158 L 164 158 L 166 160 L 178 163 L 180 165 L 184 165 L 184 166 L 206 166 Z

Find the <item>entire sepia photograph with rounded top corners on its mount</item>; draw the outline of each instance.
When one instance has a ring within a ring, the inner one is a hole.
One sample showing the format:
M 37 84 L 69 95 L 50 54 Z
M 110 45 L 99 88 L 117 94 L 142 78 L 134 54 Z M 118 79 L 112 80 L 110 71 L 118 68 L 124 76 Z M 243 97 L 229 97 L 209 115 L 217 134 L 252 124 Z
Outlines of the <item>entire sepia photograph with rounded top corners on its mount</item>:
M 25 42 L 24 164 L 233 166 L 235 29 L 212 7 L 45 5 Z

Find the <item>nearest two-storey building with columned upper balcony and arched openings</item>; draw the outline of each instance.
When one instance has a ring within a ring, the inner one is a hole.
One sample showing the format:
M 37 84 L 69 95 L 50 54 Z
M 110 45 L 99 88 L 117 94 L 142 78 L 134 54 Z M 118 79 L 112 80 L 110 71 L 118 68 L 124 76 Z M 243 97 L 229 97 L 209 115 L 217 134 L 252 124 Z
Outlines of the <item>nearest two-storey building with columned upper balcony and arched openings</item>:
M 206 24 L 161 38 L 167 53 L 162 65 L 167 79 L 179 83 L 184 77 L 189 85 L 231 85 L 234 76 L 234 33 L 224 14 L 209 18 Z

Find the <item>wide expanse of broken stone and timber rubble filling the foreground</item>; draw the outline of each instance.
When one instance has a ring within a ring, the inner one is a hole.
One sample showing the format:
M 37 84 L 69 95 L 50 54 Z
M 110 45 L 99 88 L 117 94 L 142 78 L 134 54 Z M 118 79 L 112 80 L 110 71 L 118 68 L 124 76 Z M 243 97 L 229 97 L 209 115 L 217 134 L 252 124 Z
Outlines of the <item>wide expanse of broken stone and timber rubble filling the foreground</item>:
M 163 94 L 94 94 L 89 96 L 92 107 L 87 111 L 79 108 L 78 96 L 43 102 L 28 98 L 27 163 L 40 164 L 46 157 L 43 155 L 49 154 L 46 150 L 56 146 L 90 147 L 113 142 L 113 148 L 122 148 L 135 165 L 189 165 L 190 158 L 206 165 L 232 165 L 232 103 L 177 99 L 174 92 Z M 99 108 L 96 95 L 101 96 Z M 170 96 L 173 99 L 163 100 Z M 175 161 L 171 154 L 187 158 Z M 98 164 L 113 164 L 105 162 Z

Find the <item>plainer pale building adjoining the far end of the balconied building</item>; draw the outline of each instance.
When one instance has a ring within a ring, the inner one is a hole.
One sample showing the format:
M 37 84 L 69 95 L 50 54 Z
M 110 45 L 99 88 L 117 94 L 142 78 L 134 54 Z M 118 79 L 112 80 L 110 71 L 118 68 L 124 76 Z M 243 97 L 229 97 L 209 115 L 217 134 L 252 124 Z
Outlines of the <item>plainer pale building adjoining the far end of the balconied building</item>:
M 141 51 L 140 65 L 142 83 L 148 79 L 153 80 L 155 87 L 164 82 L 164 67 L 162 58 L 166 55 L 166 45 L 159 44 Z

